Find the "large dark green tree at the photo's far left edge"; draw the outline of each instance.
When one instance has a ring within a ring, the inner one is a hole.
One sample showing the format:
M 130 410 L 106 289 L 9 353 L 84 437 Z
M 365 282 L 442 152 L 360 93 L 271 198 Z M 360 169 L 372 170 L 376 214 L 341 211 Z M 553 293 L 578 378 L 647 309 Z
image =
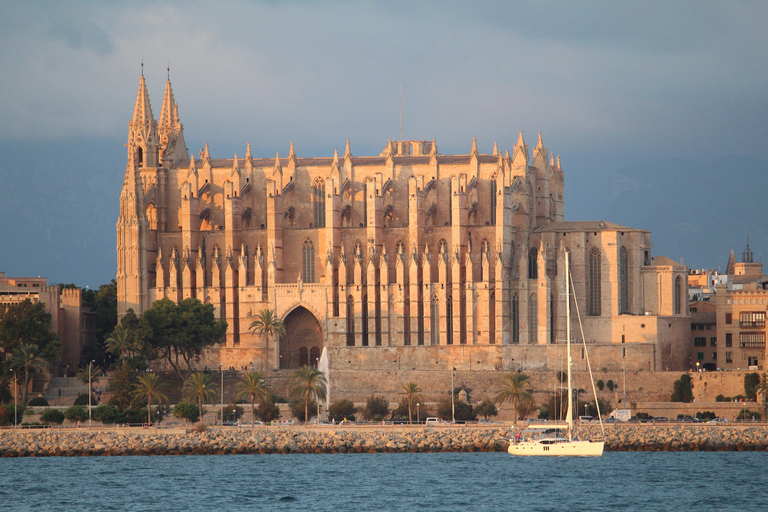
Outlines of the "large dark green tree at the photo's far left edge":
M 26 299 L 0 315 L 0 352 L 12 353 L 21 345 L 36 346 L 39 356 L 48 362 L 59 357 L 61 343 L 42 302 Z

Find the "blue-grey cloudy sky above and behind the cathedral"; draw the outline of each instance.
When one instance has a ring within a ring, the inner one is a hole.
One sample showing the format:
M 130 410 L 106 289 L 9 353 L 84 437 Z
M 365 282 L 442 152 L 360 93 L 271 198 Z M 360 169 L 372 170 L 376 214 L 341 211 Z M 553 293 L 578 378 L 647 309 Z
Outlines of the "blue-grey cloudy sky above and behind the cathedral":
M 561 156 L 566 219 L 653 232 L 724 270 L 768 254 L 768 3 L 0 0 L 0 271 L 115 275 L 142 70 L 170 67 L 190 151 L 378 154 L 400 129 L 441 153 Z

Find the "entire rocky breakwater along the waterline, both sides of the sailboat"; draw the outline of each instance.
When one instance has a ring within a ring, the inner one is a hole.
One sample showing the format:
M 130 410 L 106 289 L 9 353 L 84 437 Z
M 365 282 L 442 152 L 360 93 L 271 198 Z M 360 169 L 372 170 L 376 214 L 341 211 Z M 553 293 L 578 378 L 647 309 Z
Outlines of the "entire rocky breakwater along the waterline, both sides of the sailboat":
M 606 451 L 765 451 L 768 426 L 606 425 Z M 0 431 L 0 457 L 506 451 L 508 429 L 272 428 Z M 601 438 L 599 425 L 581 438 Z

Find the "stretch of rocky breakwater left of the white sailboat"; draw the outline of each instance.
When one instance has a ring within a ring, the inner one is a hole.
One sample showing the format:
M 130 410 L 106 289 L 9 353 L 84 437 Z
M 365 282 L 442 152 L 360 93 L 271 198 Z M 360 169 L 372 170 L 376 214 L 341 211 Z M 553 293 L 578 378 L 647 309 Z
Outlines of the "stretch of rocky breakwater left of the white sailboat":
M 481 452 L 507 448 L 506 429 L 212 429 L 206 432 L 0 432 L 0 457 L 256 453 Z

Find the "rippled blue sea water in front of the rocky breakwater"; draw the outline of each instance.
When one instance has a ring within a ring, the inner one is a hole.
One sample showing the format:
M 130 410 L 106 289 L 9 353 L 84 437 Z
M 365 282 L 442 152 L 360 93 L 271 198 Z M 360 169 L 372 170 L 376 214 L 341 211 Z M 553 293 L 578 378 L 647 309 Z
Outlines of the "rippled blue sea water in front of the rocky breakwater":
M 768 510 L 768 453 L 0 459 L 0 509 Z

